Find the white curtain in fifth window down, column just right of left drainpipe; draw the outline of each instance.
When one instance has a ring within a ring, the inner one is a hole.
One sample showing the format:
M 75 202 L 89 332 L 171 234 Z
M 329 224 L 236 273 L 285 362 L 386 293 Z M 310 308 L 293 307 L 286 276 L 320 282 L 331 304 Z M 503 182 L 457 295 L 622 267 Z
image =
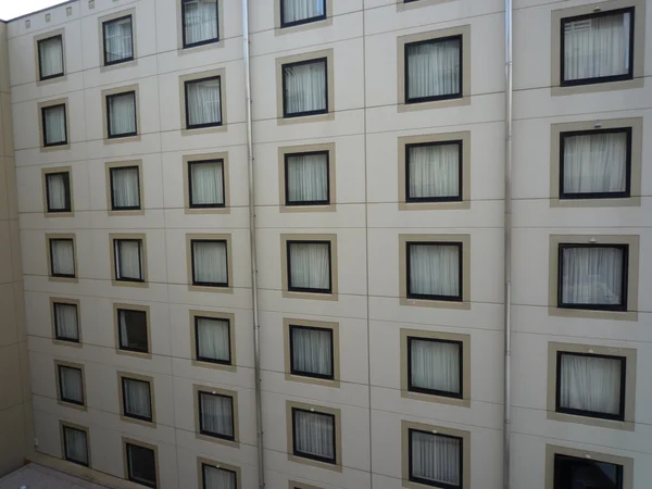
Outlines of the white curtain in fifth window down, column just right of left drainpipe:
M 292 368 L 333 375 L 333 334 L 329 329 L 291 327 Z

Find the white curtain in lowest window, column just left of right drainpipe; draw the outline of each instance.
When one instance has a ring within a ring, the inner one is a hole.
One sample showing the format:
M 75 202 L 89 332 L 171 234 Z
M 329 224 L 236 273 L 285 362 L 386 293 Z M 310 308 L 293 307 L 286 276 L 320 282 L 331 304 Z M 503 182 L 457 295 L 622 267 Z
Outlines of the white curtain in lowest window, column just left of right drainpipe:
M 461 486 L 460 440 L 411 431 L 412 475 L 432 482 Z

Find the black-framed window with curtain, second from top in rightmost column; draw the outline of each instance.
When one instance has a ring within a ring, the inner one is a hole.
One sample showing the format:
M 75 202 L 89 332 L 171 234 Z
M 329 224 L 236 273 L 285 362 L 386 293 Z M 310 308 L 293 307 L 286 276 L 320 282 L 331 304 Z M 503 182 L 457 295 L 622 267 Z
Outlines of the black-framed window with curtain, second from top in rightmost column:
M 562 133 L 560 137 L 561 199 L 630 196 L 630 127 Z

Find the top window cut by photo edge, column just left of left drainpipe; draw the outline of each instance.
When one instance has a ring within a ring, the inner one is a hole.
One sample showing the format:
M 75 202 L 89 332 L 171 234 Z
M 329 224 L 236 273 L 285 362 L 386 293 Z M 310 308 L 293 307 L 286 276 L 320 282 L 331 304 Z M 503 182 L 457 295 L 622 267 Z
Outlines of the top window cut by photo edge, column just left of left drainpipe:
M 181 0 L 184 48 L 220 40 L 217 0 Z

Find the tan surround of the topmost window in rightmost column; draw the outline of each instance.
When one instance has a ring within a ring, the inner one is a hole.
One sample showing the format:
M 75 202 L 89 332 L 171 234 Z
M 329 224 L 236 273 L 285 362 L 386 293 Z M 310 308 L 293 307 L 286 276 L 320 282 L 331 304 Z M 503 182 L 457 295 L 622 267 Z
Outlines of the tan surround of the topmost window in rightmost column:
M 600 2 L 600 12 L 635 7 L 634 15 L 634 78 L 623 82 L 610 82 L 601 84 L 577 85 L 561 87 L 561 36 L 562 20 L 578 15 L 595 13 L 595 3 L 572 7 L 567 9 L 553 10 L 551 12 L 551 46 L 550 46 L 550 95 L 566 96 L 576 93 L 594 93 L 599 91 L 625 90 L 628 88 L 641 88 L 644 84 L 644 49 L 645 46 L 645 0 L 610 0 Z

